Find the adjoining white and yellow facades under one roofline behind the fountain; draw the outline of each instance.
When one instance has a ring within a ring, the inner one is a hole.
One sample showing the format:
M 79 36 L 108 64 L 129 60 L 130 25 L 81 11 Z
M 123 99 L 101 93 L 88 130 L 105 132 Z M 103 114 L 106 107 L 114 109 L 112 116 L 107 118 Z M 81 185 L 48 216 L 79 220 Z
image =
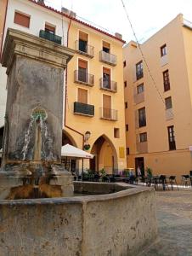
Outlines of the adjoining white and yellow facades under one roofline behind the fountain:
M 76 19 L 76 14 L 68 9 L 58 11 L 43 1 L 8 0 L 4 13 L 4 38 L 7 28 L 12 27 L 76 49 L 65 75 L 63 144 L 71 143 L 94 154 L 94 159 L 84 163 L 84 167 L 95 171 L 104 168 L 109 173 L 126 168 L 122 101 L 125 42 L 120 35 L 110 35 Z M 0 73 L 0 127 L 3 127 L 7 75 L 3 67 Z M 76 162 L 73 165 L 78 168 Z

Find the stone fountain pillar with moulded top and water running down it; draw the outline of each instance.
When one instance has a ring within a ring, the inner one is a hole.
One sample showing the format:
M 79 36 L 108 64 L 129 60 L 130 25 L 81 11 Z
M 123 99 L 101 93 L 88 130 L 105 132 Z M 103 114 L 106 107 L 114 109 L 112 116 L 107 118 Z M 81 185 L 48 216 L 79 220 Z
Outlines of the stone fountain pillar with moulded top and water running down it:
M 61 143 L 64 70 L 73 55 L 72 49 L 8 29 L 2 56 L 8 97 L 0 198 L 30 196 L 35 186 L 45 197 L 71 195 L 72 177 L 61 165 Z M 20 195 L 21 189 L 29 190 L 27 196 Z

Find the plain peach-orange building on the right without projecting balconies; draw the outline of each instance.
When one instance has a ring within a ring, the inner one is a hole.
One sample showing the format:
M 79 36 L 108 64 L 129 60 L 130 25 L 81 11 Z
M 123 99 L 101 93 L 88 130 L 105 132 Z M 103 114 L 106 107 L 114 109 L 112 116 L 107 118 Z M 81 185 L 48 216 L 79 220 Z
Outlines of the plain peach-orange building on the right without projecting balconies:
M 140 47 L 152 78 L 138 45 L 124 47 L 127 166 L 180 180 L 192 170 L 192 23 L 178 15 Z

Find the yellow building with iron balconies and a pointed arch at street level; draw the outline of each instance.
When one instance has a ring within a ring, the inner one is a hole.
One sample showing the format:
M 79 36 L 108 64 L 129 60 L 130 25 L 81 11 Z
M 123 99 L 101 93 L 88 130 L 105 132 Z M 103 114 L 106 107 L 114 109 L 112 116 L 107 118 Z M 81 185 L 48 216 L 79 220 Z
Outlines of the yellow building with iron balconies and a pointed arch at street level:
M 115 173 L 127 166 L 122 71 L 125 42 L 119 34 L 100 31 L 74 15 L 68 47 L 76 49 L 76 55 L 67 68 L 64 143 L 94 154 L 90 165 L 85 165 L 91 170 L 104 168 Z

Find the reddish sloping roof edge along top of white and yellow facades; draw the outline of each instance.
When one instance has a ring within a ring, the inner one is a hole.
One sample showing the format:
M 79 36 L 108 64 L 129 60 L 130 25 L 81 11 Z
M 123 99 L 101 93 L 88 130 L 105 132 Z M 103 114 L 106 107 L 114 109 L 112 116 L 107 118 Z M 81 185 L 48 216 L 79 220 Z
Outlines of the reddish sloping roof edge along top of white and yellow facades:
M 124 40 L 122 40 L 122 39 L 120 39 L 120 38 L 116 38 L 115 36 L 111 35 L 110 33 L 104 32 L 104 31 L 102 31 L 101 29 L 99 29 L 99 28 L 97 28 L 97 27 L 95 27 L 95 26 L 92 26 L 92 25 L 90 25 L 90 24 L 88 24 L 88 23 L 86 23 L 86 22 L 83 22 L 82 20 L 78 20 L 78 19 L 76 19 L 76 18 L 74 18 L 74 17 L 71 17 L 70 15 L 65 15 L 65 14 L 62 13 L 61 11 L 59 11 L 59 10 L 57 10 L 57 9 L 54 9 L 54 8 L 48 6 L 48 5 L 45 5 L 45 4 L 42 4 L 42 3 L 37 3 L 35 0 L 28 0 L 28 1 L 31 2 L 31 3 L 35 3 L 35 4 L 37 4 L 38 6 L 41 6 L 41 7 L 44 8 L 44 9 L 48 9 L 48 10 L 51 10 L 51 11 L 53 11 L 53 12 L 59 14 L 59 15 L 63 15 L 63 16 L 65 16 L 66 18 L 68 18 L 68 19 L 70 19 L 70 20 L 74 20 L 74 21 L 76 21 L 76 22 L 78 22 L 78 23 L 80 23 L 80 24 L 82 24 L 82 25 L 84 25 L 84 26 L 88 26 L 89 28 L 92 28 L 92 29 L 94 29 L 94 30 L 97 31 L 97 32 L 101 32 L 101 33 L 103 33 L 104 35 L 106 35 L 106 36 L 108 36 L 108 37 L 110 37 L 110 38 L 114 38 L 114 39 L 116 39 L 117 41 L 120 41 L 121 43 L 126 44 L 126 41 L 124 41 Z

